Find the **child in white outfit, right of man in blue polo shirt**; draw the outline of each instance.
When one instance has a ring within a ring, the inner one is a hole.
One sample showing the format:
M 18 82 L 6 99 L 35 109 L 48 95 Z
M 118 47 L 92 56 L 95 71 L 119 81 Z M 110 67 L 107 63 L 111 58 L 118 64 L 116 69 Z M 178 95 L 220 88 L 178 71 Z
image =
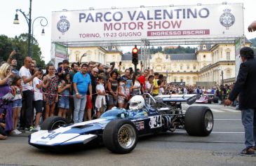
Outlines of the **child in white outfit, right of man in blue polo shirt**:
M 106 92 L 104 88 L 105 79 L 103 77 L 98 78 L 99 84 L 96 85 L 97 98 L 95 101 L 95 110 L 97 118 L 100 118 L 101 114 L 106 109 Z

